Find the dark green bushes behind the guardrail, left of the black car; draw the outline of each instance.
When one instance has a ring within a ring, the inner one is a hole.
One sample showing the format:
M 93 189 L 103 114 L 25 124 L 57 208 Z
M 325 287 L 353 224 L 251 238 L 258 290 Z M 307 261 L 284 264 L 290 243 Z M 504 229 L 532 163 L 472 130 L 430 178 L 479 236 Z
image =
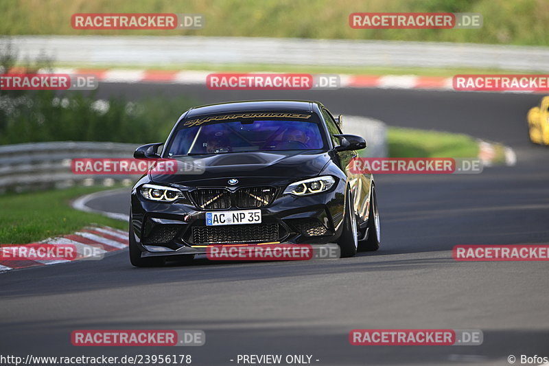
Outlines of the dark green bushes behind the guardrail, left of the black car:
M 57 98 L 54 91 L 0 90 L 0 145 L 43 141 L 162 141 L 176 119 L 198 102 L 183 96 L 152 96 L 139 102 L 110 98 L 107 111 L 94 108 L 95 95 Z M 78 116 L 78 117 L 75 117 Z

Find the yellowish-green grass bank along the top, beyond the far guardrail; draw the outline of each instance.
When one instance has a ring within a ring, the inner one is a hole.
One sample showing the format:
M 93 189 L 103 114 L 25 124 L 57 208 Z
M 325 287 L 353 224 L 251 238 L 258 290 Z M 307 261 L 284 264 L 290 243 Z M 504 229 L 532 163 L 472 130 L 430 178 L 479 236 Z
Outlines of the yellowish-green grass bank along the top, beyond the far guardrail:
M 204 14 L 201 30 L 73 30 L 71 14 Z M 354 30 L 351 12 L 478 12 L 477 30 Z M 549 45 L 546 0 L 0 0 L 0 34 L 344 38 Z M 273 55 L 277 57 L 277 55 Z

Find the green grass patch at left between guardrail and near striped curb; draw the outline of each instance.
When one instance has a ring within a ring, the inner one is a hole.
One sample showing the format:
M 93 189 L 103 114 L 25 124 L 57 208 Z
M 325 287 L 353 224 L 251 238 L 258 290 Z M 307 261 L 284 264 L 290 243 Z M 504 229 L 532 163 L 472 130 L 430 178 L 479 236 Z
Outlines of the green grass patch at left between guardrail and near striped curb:
M 128 224 L 75 210 L 70 201 L 104 187 L 73 187 L 66 190 L 0 195 L 0 244 L 26 244 L 51 236 L 73 233 L 95 223 L 118 229 Z

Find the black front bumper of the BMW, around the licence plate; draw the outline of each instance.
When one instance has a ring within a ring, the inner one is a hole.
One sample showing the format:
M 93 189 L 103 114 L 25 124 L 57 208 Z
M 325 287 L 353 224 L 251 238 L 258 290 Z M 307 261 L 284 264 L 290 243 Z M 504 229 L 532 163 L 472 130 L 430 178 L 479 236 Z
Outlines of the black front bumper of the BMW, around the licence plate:
M 130 244 L 141 249 L 142 257 L 153 257 L 205 254 L 211 245 L 326 244 L 338 240 L 344 183 L 339 181 L 330 191 L 312 196 L 281 192 L 279 189 L 272 203 L 261 208 L 261 224 L 206 226 L 206 212 L 215 210 L 198 209 L 191 203 L 148 201 L 133 190 Z

